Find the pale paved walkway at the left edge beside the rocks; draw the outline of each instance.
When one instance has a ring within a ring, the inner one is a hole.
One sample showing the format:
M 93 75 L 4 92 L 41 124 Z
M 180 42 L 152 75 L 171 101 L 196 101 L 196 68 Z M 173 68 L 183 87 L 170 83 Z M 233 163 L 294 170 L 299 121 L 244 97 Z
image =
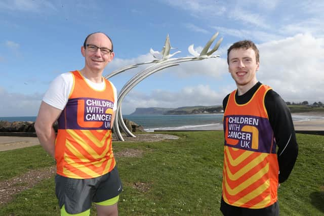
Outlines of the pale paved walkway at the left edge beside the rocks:
M 36 137 L 2 137 L 0 136 L 0 151 L 39 145 Z

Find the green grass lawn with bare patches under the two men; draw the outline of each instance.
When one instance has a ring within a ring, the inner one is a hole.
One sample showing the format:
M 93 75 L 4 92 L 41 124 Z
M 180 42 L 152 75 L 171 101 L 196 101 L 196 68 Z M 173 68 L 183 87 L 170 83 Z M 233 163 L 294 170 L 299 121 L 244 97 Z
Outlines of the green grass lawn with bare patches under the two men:
M 124 191 L 119 215 L 222 215 L 222 132 L 177 132 L 179 140 L 118 142 L 114 152 L 139 149 L 142 157 L 120 157 Z M 280 215 L 324 215 L 324 137 L 297 135 L 299 156 L 289 180 L 278 191 Z M 1 180 L 53 165 L 39 147 L 0 152 Z M 18 165 L 19 164 L 19 165 Z M 135 183 L 148 188 L 140 191 Z M 54 178 L 0 206 L 0 215 L 59 215 Z M 91 215 L 96 215 L 93 208 Z

